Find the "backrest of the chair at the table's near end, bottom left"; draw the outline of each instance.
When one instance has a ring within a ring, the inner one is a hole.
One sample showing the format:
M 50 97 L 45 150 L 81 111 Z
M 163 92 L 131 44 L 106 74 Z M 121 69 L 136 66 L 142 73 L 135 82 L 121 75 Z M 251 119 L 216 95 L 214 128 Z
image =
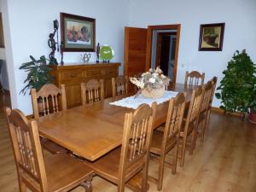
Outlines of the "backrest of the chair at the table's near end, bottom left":
M 37 122 L 33 120 L 29 123 L 26 116 L 17 109 L 5 108 L 5 113 L 14 149 L 18 177 L 25 177 L 26 175 L 27 182 L 38 182 L 41 191 L 48 191 Z

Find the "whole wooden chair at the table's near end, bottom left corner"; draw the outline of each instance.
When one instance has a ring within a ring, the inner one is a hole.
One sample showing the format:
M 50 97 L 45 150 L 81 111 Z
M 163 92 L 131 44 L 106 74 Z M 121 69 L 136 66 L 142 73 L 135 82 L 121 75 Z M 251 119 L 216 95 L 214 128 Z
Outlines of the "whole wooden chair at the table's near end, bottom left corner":
M 68 191 L 82 184 L 91 191 L 90 167 L 68 154 L 49 154 L 43 158 L 36 120 L 28 122 L 19 110 L 5 108 L 9 134 L 15 154 L 20 192 Z

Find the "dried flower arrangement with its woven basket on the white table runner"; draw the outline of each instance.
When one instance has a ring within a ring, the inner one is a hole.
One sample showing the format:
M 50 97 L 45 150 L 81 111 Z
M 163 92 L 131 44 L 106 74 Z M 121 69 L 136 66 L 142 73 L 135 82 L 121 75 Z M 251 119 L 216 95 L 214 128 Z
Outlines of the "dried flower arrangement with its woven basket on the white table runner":
M 136 84 L 139 92 L 148 98 L 160 98 L 164 96 L 166 87 L 170 79 L 166 77 L 160 67 L 150 68 L 148 72 L 143 73 L 139 78 L 130 78 L 132 84 Z

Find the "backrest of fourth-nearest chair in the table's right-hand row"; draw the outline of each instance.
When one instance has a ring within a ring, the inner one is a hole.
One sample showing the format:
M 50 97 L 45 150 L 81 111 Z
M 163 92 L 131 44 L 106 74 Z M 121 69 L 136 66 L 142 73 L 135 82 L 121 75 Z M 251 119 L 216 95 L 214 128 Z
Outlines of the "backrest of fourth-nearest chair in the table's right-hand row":
M 209 109 L 209 104 L 212 98 L 212 81 L 208 81 L 203 86 L 203 94 L 201 99 L 200 113 L 205 113 Z

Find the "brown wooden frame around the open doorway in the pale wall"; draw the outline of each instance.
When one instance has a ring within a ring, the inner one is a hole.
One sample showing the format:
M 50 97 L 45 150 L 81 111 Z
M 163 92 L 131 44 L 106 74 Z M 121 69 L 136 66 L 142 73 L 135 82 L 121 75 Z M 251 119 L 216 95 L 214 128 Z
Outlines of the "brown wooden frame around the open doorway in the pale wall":
M 146 50 L 146 71 L 151 66 L 151 55 L 152 55 L 152 34 L 153 30 L 170 30 L 175 29 L 177 30 L 177 39 L 176 39 L 176 46 L 175 46 L 175 61 L 174 61 L 174 68 L 173 68 L 173 80 L 172 84 L 176 84 L 176 77 L 177 77 L 177 57 L 178 57 L 178 48 L 179 48 L 179 38 L 180 38 L 180 29 L 181 24 L 176 25 L 161 25 L 161 26 L 148 26 L 148 35 L 147 35 L 147 50 Z

